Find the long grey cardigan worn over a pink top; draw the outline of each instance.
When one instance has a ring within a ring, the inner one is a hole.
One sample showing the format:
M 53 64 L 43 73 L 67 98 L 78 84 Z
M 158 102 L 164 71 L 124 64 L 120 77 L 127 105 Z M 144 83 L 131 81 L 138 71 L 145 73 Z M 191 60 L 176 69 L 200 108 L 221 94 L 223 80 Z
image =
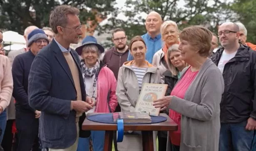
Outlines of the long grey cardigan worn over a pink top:
M 188 69 L 183 70 L 179 80 Z M 180 151 L 219 150 L 223 92 L 222 74 L 211 59 L 207 59 L 187 89 L 184 99 L 173 96 L 169 108 L 182 115 Z

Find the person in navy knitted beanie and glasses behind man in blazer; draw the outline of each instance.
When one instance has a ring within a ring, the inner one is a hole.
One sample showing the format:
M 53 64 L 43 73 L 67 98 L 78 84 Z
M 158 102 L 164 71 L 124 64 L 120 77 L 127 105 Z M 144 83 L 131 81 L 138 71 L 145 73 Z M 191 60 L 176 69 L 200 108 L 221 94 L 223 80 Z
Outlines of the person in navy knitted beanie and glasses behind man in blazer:
M 49 39 L 42 29 L 34 29 L 27 36 L 27 52 L 17 55 L 12 64 L 13 93 L 15 98 L 17 151 L 39 151 L 38 129 L 40 111 L 28 103 L 28 75 L 37 53 L 48 45 Z

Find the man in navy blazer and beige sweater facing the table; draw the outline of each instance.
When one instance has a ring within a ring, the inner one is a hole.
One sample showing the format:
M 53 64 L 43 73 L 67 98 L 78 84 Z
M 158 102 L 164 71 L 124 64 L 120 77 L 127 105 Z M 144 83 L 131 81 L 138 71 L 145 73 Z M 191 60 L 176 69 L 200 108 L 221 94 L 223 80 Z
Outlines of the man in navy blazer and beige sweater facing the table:
M 78 43 L 82 35 L 78 14 L 69 5 L 51 12 L 56 36 L 37 54 L 29 74 L 29 104 L 41 111 L 39 137 L 49 151 L 76 151 L 78 137 L 90 135 L 81 126 L 95 103 L 86 96 L 79 56 L 70 49 L 70 43 Z

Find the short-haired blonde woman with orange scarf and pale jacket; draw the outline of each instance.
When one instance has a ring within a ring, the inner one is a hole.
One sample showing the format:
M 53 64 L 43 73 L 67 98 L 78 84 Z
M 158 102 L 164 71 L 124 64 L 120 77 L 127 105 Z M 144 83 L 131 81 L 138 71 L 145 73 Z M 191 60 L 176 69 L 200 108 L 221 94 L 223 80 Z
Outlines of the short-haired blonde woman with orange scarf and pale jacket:
M 164 83 L 163 73 L 167 70 L 167 51 L 174 44 L 179 43 L 179 29 L 174 21 L 166 21 L 160 28 L 163 40 L 163 48 L 158 50 L 153 57 L 152 65 L 159 68 L 161 82 Z

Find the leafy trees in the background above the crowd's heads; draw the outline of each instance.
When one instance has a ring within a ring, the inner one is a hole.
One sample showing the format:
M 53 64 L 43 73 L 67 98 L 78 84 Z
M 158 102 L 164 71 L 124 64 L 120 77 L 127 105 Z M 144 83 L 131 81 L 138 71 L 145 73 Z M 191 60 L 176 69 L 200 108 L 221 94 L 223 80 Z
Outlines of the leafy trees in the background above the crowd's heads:
M 95 13 L 108 16 L 107 24 L 98 26 L 99 34 L 122 27 L 128 39 L 146 32 L 145 15 L 151 11 L 161 14 L 162 19 L 177 22 L 179 29 L 190 25 L 203 25 L 217 31 L 225 21 L 240 21 L 248 30 L 248 41 L 256 43 L 256 1 L 234 0 L 126 0 L 126 9 L 114 7 L 115 0 L 0 0 L 0 29 L 23 34 L 27 26 L 49 26 L 50 11 L 57 5 L 74 5 L 80 9 L 83 24 L 88 18 L 95 19 Z M 92 11 L 95 10 L 95 11 Z M 122 13 L 126 17 L 119 17 Z M 124 19 L 125 18 L 125 19 Z M 95 22 L 98 24 L 98 22 Z

